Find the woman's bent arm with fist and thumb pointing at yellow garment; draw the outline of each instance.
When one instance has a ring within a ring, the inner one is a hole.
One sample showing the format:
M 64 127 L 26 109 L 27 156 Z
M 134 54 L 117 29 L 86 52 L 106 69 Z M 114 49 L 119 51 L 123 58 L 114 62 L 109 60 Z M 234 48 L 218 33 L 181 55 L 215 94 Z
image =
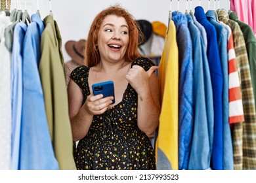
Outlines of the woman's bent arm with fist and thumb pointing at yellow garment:
M 134 65 L 127 73 L 127 80 L 138 93 L 138 126 L 150 136 L 159 124 L 160 93 L 158 78 L 153 66 L 147 72 L 139 65 Z

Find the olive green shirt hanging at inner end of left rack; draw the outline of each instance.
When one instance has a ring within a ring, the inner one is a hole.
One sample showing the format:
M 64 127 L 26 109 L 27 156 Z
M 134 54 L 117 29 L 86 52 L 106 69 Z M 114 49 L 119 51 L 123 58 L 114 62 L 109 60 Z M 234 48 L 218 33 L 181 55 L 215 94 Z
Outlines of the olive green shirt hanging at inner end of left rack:
M 43 86 L 51 140 L 60 169 L 76 169 L 68 115 L 68 93 L 61 50 L 62 39 L 53 16 L 46 16 L 43 22 L 45 30 L 41 35 L 39 75 Z

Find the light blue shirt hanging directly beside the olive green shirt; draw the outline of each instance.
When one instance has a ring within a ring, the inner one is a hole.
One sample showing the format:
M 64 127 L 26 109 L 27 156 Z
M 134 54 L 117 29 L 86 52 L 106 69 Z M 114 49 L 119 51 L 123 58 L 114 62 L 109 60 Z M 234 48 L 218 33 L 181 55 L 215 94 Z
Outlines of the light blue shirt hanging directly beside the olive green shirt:
M 24 38 L 23 103 L 18 169 L 58 169 L 49 133 L 43 89 L 38 70 L 41 35 L 45 26 L 37 14 Z

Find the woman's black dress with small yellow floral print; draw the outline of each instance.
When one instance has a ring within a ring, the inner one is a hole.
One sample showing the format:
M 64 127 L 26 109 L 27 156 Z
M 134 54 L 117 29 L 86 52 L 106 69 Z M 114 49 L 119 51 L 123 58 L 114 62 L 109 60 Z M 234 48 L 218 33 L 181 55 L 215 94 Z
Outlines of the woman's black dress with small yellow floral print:
M 148 71 L 154 65 L 146 58 L 133 61 Z M 81 88 L 83 103 L 90 94 L 89 67 L 77 67 L 70 78 Z M 104 114 L 95 115 L 87 135 L 75 150 L 77 169 L 156 169 L 150 140 L 137 125 L 137 93 L 128 84 L 123 99 Z

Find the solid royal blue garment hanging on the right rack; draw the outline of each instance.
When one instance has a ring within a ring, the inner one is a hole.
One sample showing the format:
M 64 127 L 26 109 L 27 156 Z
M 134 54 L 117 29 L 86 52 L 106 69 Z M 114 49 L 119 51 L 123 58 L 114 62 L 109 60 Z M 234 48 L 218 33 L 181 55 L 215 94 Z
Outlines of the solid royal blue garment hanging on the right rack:
M 196 20 L 203 25 L 207 34 L 207 58 L 213 86 L 214 136 L 212 169 L 223 169 L 223 72 L 217 44 L 215 27 L 206 19 L 202 7 L 195 8 Z

